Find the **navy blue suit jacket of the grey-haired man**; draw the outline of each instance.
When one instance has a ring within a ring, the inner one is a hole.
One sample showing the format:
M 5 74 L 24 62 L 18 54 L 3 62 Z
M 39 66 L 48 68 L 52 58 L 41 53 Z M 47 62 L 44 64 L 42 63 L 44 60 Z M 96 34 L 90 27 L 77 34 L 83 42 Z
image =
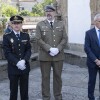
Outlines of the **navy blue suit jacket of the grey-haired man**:
M 86 32 L 84 50 L 87 54 L 88 67 L 96 67 L 94 61 L 100 59 L 100 46 L 95 28 Z

